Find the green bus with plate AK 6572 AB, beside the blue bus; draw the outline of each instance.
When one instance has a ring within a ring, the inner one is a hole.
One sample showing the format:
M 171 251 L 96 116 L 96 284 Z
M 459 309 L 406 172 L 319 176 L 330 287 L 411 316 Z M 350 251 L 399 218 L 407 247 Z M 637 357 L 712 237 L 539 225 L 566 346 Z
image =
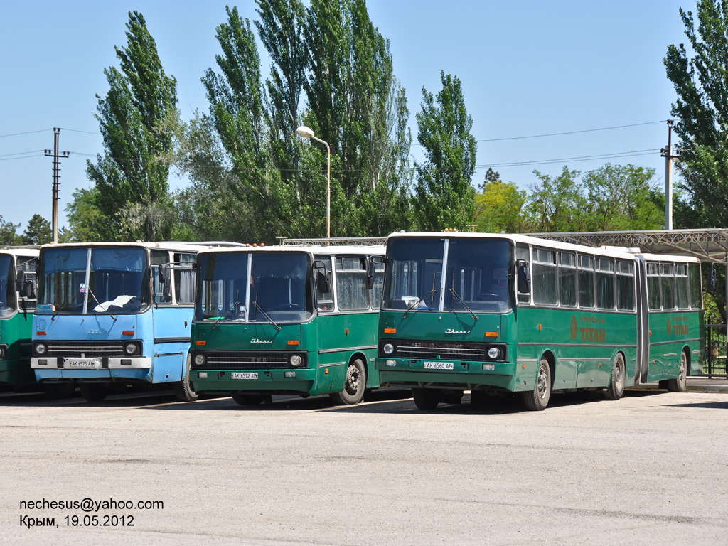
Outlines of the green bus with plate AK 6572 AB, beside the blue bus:
M 273 394 L 360 402 L 365 389 L 379 387 L 373 360 L 383 255 L 383 246 L 200 252 L 194 391 L 232 395 L 240 405 Z

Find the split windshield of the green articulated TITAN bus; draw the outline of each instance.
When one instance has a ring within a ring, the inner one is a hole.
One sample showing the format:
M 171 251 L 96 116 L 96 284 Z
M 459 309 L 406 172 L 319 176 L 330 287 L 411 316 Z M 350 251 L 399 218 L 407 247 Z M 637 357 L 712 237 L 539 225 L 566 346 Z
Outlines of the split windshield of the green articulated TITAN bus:
M 390 240 L 384 309 L 439 311 L 443 293 L 445 312 L 506 312 L 513 293 L 510 249 L 501 239 Z

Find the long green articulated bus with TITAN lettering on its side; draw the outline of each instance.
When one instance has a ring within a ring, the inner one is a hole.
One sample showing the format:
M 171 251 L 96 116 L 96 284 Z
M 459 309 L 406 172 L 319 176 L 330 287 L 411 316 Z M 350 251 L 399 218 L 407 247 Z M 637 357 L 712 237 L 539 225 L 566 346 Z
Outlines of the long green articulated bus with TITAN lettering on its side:
M 376 369 L 420 409 L 700 372 L 700 261 L 508 234 L 412 233 L 387 240 Z

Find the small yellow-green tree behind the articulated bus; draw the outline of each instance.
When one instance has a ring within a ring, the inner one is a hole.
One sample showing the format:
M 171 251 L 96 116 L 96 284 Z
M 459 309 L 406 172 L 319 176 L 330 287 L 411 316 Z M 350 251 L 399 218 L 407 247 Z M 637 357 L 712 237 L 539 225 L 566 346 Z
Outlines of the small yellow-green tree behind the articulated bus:
M 475 194 L 475 215 L 472 223 L 480 233 L 520 233 L 523 230 L 523 204 L 526 191 L 513 182 L 504 182 L 492 169 Z

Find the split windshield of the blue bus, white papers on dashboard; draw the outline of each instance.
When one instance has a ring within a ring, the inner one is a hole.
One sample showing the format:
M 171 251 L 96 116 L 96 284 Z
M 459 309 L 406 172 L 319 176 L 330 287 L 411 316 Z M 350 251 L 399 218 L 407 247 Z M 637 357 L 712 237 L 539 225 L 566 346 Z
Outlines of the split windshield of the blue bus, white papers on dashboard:
M 49 248 L 41 256 L 39 314 L 132 314 L 149 306 L 143 248 Z

